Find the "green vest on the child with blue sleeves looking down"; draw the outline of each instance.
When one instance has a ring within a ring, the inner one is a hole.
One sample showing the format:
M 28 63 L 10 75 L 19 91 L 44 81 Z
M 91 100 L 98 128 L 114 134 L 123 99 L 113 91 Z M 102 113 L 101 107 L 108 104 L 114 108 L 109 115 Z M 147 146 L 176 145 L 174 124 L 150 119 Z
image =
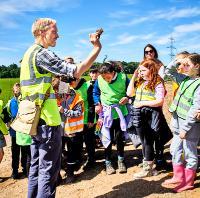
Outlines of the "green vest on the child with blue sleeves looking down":
M 126 75 L 118 73 L 117 79 L 113 83 L 106 82 L 102 76 L 98 76 L 99 89 L 101 91 L 101 103 L 105 105 L 119 104 L 121 98 L 126 96 Z M 123 115 L 128 114 L 126 105 L 120 105 Z M 119 118 L 117 112 L 112 110 L 113 119 Z

